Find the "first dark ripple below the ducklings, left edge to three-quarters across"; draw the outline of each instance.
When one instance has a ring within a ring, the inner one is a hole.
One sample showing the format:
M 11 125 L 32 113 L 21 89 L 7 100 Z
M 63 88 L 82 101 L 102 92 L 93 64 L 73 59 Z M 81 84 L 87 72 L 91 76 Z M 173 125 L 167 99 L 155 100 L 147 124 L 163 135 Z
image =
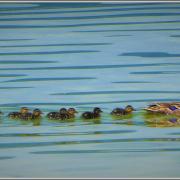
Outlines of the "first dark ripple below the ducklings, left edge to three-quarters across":
M 87 131 L 87 132 L 59 132 L 59 133 L 6 133 L 0 134 L 0 137 L 38 137 L 38 136 L 80 136 L 97 134 L 123 134 L 133 133 L 135 130 L 112 130 L 112 131 Z

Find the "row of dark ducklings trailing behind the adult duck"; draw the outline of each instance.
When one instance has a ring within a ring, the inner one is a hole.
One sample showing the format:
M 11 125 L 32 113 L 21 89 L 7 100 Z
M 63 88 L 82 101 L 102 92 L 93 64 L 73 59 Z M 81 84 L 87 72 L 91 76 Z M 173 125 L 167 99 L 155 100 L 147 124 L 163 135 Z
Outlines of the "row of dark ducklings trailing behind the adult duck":
M 134 108 L 131 105 L 126 106 L 125 108 L 115 108 L 110 114 L 116 116 L 123 116 L 131 114 L 134 111 Z M 101 117 L 103 111 L 99 107 L 95 107 L 93 111 L 86 111 L 81 114 L 83 119 L 96 119 Z M 46 117 L 48 119 L 54 120 L 66 120 L 75 118 L 75 114 L 78 113 L 75 108 L 61 108 L 59 111 L 49 112 Z M 42 111 L 40 109 L 34 109 L 32 112 L 29 112 L 27 107 L 20 108 L 18 112 L 10 112 L 8 117 L 11 119 L 22 119 L 22 120 L 33 120 L 42 117 Z

